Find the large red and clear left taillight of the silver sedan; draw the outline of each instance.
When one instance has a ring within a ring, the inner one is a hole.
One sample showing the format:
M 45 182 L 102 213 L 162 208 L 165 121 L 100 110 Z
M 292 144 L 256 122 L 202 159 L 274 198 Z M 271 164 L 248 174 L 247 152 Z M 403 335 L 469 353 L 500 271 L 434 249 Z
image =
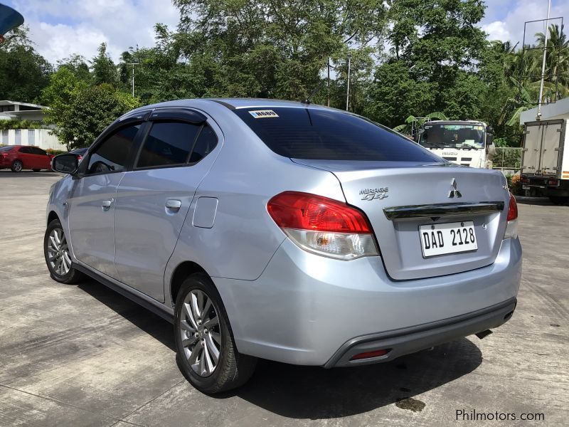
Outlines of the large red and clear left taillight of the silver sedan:
M 270 199 L 267 211 L 305 251 L 340 260 L 378 255 L 366 215 L 341 201 L 285 191 Z

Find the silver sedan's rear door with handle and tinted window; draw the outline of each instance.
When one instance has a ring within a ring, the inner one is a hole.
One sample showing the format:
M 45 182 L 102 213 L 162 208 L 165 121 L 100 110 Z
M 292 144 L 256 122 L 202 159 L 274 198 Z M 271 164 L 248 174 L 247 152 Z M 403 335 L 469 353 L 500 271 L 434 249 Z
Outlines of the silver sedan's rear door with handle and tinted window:
M 198 112 L 150 117 L 132 171 L 117 189 L 115 267 L 119 280 L 164 302 L 164 270 L 198 184 L 211 167 L 216 132 Z

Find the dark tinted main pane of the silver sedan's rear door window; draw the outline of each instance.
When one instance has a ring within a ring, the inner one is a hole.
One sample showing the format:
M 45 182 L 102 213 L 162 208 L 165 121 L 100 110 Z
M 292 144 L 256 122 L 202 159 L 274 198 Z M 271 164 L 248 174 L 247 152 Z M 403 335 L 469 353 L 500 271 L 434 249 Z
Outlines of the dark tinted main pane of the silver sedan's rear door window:
M 154 122 L 140 152 L 137 168 L 186 164 L 201 126 Z

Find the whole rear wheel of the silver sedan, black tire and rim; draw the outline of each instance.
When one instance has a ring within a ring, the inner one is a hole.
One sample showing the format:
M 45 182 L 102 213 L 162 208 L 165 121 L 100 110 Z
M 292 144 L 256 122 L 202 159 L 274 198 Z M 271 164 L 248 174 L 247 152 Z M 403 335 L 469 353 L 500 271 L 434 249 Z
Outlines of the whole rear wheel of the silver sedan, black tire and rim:
M 203 393 L 235 389 L 255 371 L 257 359 L 238 352 L 221 297 L 204 273 L 191 275 L 181 285 L 174 309 L 174 337 L 181 373 Z

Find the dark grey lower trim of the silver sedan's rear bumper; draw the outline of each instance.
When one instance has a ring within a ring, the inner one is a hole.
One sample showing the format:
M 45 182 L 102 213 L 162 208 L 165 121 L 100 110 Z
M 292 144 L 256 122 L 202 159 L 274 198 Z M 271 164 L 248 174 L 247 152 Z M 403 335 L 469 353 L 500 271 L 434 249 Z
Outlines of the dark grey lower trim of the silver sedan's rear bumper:
M 363 364 L 389 362 L 405 354 L 445 344 L 468 335 L 477 334 L 493 327 L 499 327 L 510 320 L 516 309 L 517 300 L 512 298 L 506 302 L 488 307 L 468 315 L 454 317 L 429 325 L 410 327 L 404 330 L 381 332 L 365 337 L 357 337 L 344 343 L 331 359 L 324 364 L 325 368 L 351 367 Z M 389 349 L 388 354 L 381 357 L 351 360 L 351 357 L 363 352 L 378 349 Z

